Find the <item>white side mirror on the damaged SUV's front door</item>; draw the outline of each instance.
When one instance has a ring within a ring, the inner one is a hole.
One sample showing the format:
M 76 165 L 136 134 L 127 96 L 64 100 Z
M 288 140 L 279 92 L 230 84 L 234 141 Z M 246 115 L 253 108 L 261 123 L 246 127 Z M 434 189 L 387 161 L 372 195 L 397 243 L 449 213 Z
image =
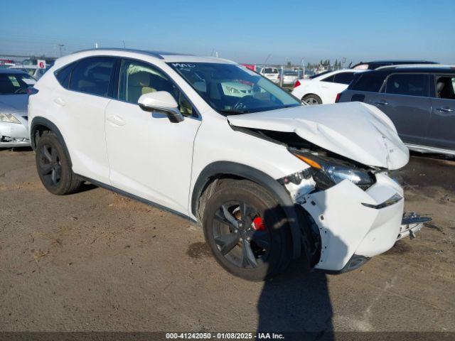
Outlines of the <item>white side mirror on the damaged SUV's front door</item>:
M 143 94 L 137 101 L 139 107 L 146 112 L 165 114 L 169 121 L 178 123 L 183 121 L 183 115 L 178 110 L 178 104 L 167 91 L 156 91 Z

